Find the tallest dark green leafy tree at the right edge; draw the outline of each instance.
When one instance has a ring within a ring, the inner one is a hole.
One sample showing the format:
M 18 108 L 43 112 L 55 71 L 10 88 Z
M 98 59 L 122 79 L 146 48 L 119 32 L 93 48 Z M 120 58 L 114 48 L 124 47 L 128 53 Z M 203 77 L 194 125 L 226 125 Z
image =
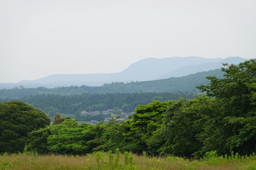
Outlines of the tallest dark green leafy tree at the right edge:
M 222 71 L 226 72 L 224 79 L 207 77 L 210 83 L 198 86 L 208 96 L 215 97 L 218 108 L 206 113 L 208 120 L 198 138 L 204 143 L 204 151 L 250 154 L 256 149 L 256 107 L 253 105 L 256 61 L 228 65 Z

